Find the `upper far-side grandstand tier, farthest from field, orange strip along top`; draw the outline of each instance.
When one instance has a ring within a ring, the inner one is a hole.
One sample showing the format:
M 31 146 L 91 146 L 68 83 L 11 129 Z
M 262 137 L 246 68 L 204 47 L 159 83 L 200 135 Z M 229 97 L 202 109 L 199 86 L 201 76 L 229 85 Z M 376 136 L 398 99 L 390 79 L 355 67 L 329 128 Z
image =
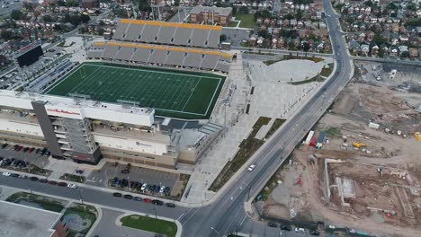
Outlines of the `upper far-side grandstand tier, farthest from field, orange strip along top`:
M 121 19 L 114 40 L 197 48 L 218 48 L 222 27 Z

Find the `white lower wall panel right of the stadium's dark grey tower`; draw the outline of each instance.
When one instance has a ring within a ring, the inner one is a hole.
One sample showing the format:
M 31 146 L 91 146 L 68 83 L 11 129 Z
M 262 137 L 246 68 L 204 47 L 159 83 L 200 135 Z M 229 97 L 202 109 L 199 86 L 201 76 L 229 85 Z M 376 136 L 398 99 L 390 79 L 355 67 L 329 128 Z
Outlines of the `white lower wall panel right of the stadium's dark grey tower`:
M 134 138 L 122 138 L 94 134 L 95 142 L 100 146 L 127 150 L 145 154 L 166 154 L 166 144 L 152 143 Z

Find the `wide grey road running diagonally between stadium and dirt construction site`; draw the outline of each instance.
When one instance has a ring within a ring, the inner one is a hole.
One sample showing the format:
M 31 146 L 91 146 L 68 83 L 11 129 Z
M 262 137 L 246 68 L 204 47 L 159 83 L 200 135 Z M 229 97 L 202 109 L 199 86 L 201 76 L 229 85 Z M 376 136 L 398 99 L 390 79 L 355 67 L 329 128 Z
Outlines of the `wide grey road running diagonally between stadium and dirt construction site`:
M 345 48 L 343 34 L 337 27 L 338 20 L 330 1 L 324 0 L 323 3 L 326 13 L 332 15 L 331 18 L 327 18 L 327 25 L 335 50 L 336 74 L 322 86 L 312 100 L 289 119 L 292 122 L 285 124 L 285 127 L 258 151 L 255 171 L 245 171 L 240 174 L 214 205 L 202 207 L 195 213 L 183 216 L 184 236 L 222 236 L 235 230 L 237 224 L 241 224 L 241 220 L 247 219 L 243 204 L 248 199 L 249 189 L 250 197 L 255 197 L 288 154 L 291 154 L 295 145 L 300 143 L 310 127 L 322 116 L 337 93 L 345 87 L 352 71 L 352 64 Z M 194 221 L 186 221 L 189 218 Z M 243 226 L 244 224 L 239 228 L 242 229 Z

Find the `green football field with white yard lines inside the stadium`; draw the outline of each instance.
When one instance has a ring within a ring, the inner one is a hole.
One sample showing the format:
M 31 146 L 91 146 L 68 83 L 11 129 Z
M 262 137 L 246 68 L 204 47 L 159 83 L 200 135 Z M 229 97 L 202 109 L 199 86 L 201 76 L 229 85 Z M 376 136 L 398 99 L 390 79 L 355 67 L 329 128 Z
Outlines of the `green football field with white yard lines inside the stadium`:
M 172 118 L 209 118 L 225 77 L 204 73 L 127 67 L 103 63 L 77 66 L 47 94 L 89 95 L 95 101 L 137 101 Z

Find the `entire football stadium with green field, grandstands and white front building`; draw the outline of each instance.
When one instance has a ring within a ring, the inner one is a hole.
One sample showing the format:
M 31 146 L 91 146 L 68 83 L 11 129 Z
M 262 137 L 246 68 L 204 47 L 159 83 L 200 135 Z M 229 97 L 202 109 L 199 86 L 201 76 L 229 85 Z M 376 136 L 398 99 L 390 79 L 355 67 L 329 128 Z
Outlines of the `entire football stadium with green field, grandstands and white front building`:
M 219 50 L 220 32 L 118 20 L 112 40 L 93 39 L 21 92 L 0 90 L 0 141 L 90 164 L 194 164 L 224 131 L 235 54 Z

